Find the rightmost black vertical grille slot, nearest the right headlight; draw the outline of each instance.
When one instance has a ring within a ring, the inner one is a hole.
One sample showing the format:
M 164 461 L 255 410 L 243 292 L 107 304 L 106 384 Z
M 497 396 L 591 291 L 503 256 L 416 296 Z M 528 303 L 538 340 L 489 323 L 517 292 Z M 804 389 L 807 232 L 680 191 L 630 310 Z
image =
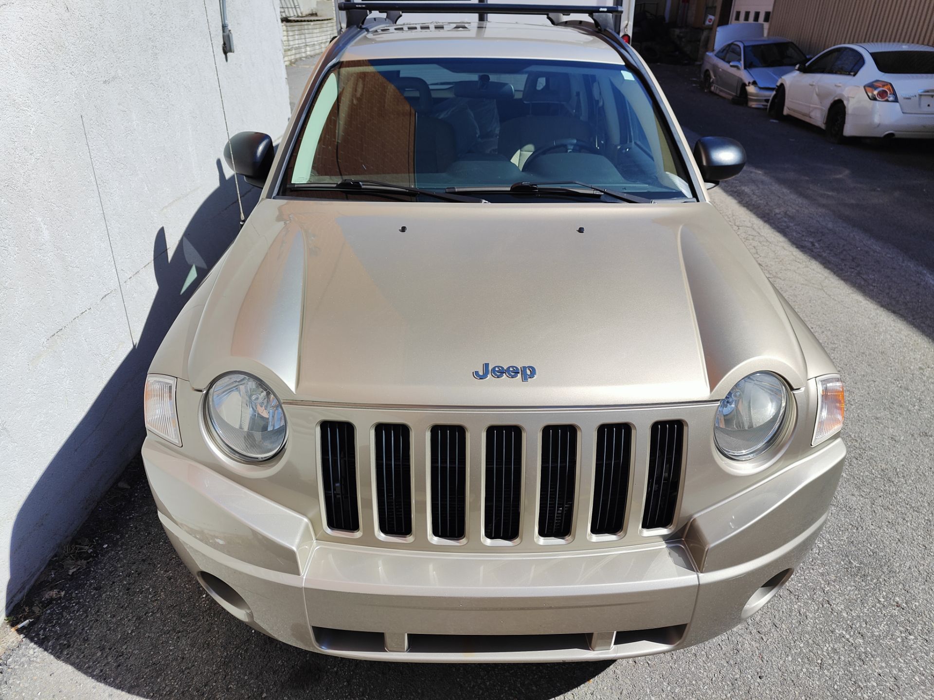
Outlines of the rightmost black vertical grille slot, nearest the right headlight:
M 661 421 L 652 426 L 648 455 L 643 527 L 669 527 L 678 502 L 681 453 L 685 426 L 681 421 Z

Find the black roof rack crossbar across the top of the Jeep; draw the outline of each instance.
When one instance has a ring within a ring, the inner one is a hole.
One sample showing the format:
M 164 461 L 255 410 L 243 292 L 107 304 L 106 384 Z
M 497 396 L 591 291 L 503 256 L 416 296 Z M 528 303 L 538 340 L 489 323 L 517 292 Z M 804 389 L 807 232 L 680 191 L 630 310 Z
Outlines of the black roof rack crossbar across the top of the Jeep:
M 594 24 L 602 30 L 612 30 L 612 16 L 625 12 L 624 7 L 618 5 L 581 6 L 581 5 L 518 5 L 516 3 L 487 3 L 487 2 L 431 2 L 430 0 L 415 0 L 415 2 L 393 2 L 393 0 L 356 0 L 350 2 L 342 0 L 337 8 L 347 12 L 348 24 L 361 24 L 370 12 L 430 12 L 434 13 L 476 13 L 486 18 L 486 15 L 546 15 L 552 21 L 559 15 L 589 15 Z

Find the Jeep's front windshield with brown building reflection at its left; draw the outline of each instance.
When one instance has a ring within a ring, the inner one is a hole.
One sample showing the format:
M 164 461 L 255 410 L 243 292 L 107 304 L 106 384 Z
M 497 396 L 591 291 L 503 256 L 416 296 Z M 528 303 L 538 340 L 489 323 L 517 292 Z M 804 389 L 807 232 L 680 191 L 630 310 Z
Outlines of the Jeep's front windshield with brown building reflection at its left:
M 435 191 L 560 181 L 693 199 L 652 97 L 622 64 L 339 63 L 305 117 L 284 191 L 327 197 L 347 180 Z

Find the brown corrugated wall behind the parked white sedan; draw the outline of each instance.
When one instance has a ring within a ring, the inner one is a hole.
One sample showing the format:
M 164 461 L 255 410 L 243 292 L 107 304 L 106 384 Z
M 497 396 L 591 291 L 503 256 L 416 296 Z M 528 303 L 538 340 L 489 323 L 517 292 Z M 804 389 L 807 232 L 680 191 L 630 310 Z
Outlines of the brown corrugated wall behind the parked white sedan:
M 934 0 L 774 0 L 769 34 L 805 53 L 835 44 L 903 41 L 934 45 Z

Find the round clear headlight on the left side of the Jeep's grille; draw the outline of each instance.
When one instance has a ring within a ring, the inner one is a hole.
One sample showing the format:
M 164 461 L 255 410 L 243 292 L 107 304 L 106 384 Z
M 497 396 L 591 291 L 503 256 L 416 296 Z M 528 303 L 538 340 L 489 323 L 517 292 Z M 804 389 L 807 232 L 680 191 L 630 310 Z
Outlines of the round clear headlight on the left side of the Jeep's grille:
M 286 414 L 273 390 L 248 374 L 224 374 L 207 391 L 207 418 L 222 445 L 250 462 L 269 459 L 286 441 Z

